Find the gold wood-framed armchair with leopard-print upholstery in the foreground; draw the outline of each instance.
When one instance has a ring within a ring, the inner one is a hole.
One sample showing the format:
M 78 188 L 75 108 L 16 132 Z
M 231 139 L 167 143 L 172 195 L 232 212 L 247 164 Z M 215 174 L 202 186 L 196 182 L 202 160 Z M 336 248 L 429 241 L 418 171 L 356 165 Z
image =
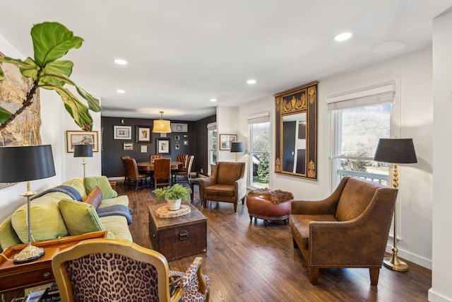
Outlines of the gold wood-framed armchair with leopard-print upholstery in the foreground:
M 55 255 L 52 271 L 63 302 L 209 301 L 202 260 L 196 257 L 186 272 L 175 272 L 155 250 L 122 240 L 90 239 Z

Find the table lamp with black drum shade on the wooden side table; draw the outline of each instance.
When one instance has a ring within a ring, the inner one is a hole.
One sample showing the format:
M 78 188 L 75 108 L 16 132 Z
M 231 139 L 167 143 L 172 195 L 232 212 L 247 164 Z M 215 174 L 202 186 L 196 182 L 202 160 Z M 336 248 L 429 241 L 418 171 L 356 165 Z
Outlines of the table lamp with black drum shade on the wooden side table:
M 36 192 L 30 192 L 30 180 L 55 175 L 52 146 L 0 147 L 0 163 L 0 182 L 27 182 L 27 192 L 20 196 L 27 197 L 28 245 L 14 256 L 14 262 L 37 260 L 44 255 L 44 250 L 31 244 L 30 197 Z

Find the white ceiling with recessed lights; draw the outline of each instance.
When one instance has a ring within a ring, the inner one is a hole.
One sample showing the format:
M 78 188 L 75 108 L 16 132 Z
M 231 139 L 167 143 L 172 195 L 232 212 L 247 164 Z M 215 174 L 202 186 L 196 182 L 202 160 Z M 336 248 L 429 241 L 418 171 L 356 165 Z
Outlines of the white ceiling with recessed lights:
M 214 115 L 216 106 L 430 45 L 432 19 L 450 6 L 452 0 L 8 0 L 0 35 L 31 57 L 32 24 L 62 23 L 85 40 L 65 59 L 74 62 L 78 86 L 101 98 L 102 116 L 155 119 L 164 111 L 167 119 L 194 121 Z M 352 38 L 335 42 L 343 32 Z M 114 64 L 117 58 L 128 64 Z

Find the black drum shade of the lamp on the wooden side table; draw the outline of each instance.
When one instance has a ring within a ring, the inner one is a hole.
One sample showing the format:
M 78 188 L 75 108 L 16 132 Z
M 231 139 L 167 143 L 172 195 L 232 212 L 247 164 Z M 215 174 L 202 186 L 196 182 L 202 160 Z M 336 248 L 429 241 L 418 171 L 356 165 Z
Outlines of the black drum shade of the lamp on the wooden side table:
M 0 147 L 0 167 L 0 182 L 22 182 L 54 176 L 52 146 Z

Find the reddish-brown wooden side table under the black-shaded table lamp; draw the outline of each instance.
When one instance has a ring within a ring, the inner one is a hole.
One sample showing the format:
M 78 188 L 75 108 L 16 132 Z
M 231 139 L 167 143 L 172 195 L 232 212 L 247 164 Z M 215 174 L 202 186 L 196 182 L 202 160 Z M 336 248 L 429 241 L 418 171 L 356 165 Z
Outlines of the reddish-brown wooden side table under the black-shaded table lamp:
M 33 243 L 33 245 L 44 248 L 44 256 L 38 260 L 21 264 L 15 264 L 13 257 L 27 245 L 20 244 L 7 248 L 0 255 L 0 294 L 55 281 L 52 272 L 53 257 L 65 248 L 76 245 L 82 240 L 93 238 L 107 238 L 107 232 L 87 233 Z

